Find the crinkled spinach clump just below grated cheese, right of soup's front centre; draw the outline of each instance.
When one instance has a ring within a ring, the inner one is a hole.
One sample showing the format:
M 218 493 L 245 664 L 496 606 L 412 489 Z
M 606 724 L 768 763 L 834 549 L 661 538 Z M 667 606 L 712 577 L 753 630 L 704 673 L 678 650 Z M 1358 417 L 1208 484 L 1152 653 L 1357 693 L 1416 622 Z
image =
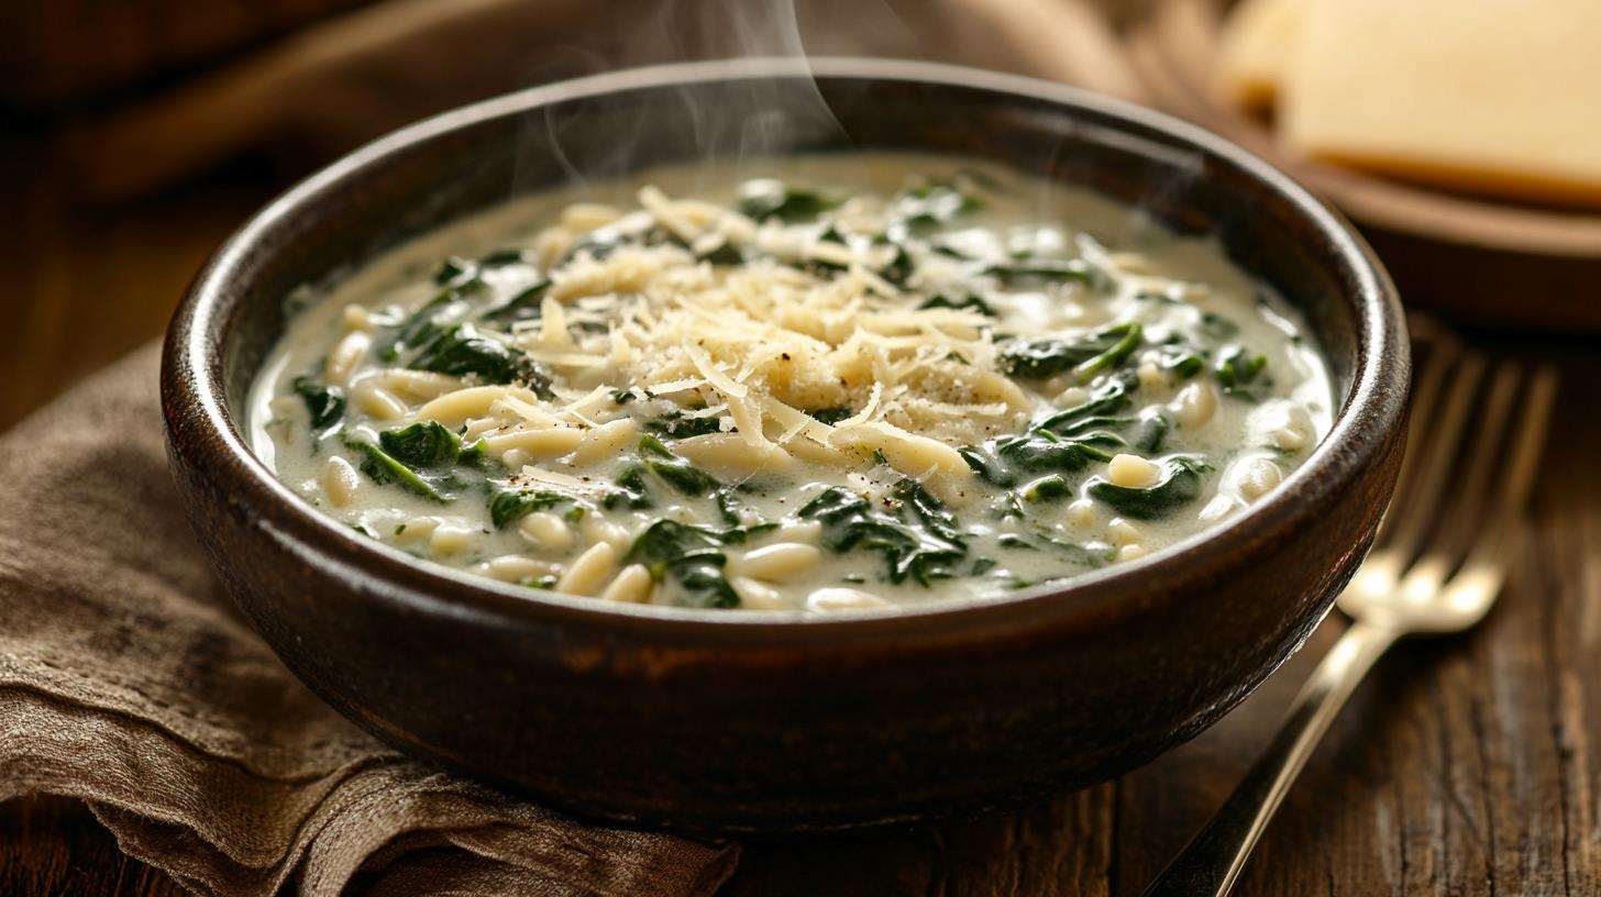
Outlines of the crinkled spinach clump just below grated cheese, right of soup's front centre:
M 879 551 L 885 575 L 893 583 L 908 577 L 927 586 L 956 575 L 956 564 L 967 556 L 956 517 L 916 481 L 900 481 L 887 501 L 887 513 L 874 511 L 866 498 L 829 487 L 807 501 L 799 514 L 823 524 L 823 545 L 831 551 Z M 905 521 L 909 508 L 913 521 Z

